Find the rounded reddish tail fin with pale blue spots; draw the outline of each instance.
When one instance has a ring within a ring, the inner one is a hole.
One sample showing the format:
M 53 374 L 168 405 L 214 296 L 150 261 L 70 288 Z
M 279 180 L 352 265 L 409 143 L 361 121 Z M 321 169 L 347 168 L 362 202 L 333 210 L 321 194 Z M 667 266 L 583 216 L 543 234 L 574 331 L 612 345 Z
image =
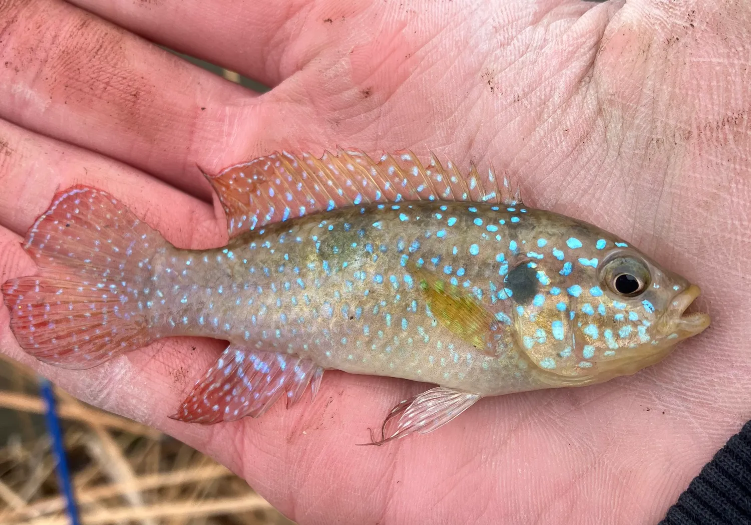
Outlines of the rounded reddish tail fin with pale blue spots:
M 41 361 L 78 370 L 146 345 L 149 259 L 164 246 L 105 192 L 74 186 L 57 194 L 23 244 L 37 275 L 0 287 L 18 343 Z

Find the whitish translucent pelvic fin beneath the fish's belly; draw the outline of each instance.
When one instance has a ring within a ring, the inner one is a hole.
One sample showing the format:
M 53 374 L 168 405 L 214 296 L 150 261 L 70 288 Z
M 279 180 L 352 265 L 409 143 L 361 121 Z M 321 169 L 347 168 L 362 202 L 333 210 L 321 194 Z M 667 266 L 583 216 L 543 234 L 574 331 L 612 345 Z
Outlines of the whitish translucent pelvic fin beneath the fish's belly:
M 447 424 L 456 418 L 479 399 L 479 394 L 469 394 L 452 390 L 451 388 L 436 387 L 409 400 L 400 401 L 381 427 L 381 439 L 372 439 L 369 443 L 360 445 L 383 445 L 384 443 L 400 439 L 413 432 L 427 434 Z M 393 430 L 391 422 L 396 418 L 397 426 Z

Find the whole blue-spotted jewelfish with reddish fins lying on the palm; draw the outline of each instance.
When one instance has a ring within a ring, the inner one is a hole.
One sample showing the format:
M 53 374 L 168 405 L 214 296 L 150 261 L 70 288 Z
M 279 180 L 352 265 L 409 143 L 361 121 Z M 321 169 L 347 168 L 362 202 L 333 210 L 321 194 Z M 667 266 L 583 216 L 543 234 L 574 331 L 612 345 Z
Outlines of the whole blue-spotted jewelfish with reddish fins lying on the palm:
M 228 340 L 172 416 L 204 424 L 315 395 L 327 369 L 437 385 L 394 408 L 381 443 L 481 397 L 635 373 L 710 323 L 686 314 L 697 286 L 525 207 L 492 170 L 339 150 L 207 178 L 231 237 L 219 249 L 176 248 L 98 189 L 56 195 L 23 245 L 37 274 L 2 285 L 21 347 L 85 369 L 161 337 Z

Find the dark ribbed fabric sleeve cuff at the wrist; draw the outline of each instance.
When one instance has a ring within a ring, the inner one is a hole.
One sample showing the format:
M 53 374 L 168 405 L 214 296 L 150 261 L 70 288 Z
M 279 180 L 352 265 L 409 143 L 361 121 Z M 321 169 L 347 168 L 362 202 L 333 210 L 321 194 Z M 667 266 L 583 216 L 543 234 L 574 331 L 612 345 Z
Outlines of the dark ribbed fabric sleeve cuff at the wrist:
M 701 469 L 659 525 L 751 525 L 751 421 Z

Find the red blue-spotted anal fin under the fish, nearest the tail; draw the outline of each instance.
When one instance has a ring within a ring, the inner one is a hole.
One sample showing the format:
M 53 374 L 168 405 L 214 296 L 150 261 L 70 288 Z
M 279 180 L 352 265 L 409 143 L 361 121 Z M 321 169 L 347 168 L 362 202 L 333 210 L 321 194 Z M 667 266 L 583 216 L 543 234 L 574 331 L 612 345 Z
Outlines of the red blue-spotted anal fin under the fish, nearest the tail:
M 315 397 L 323 372 L 296 355 L 229 345 L 170 418 L 202 424 L 258 418 L 285 393 L 288 407 L 308 385 Z

